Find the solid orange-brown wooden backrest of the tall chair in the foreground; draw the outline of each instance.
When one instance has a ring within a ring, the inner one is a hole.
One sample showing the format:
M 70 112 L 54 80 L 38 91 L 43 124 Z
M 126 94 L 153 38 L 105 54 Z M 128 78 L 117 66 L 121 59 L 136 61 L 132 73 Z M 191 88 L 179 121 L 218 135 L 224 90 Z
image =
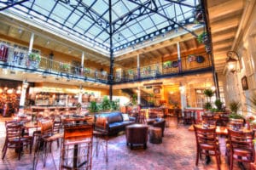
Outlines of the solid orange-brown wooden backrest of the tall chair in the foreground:
M 93 125 L 76 125 L 76 126 L 66 126 L 64 127 L 64 141 L 68 139 L 86 139 L 92 138 Z

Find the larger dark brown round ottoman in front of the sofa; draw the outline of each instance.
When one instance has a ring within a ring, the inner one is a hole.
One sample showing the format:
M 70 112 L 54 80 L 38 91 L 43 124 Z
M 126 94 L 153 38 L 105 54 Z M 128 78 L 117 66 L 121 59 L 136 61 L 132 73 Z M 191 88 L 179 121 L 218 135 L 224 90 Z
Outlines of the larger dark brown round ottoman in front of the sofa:
M 147 148 L 148 141 L 148 125 L 132 124 L 125 127 L 126 144 L 143 144 L 144 149 Z

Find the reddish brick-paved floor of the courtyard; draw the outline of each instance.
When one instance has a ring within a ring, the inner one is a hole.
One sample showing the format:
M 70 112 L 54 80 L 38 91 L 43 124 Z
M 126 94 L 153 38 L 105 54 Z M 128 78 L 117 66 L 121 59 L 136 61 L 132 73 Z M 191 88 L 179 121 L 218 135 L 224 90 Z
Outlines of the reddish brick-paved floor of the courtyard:
M 0 147 L 3 148 L 4 141 L 4 119 L 0 117 Z M 195 133 L 188 131 L 189 126 L 176 128 L 176 121 L 169 120 L 169 127 L 166 127 L 165 137 L 162 144 L 150 144 L 148 148 L 143 150 L 143 147 L 137 146 L 133 150 L 126 146 L 125 135 L 120 133 L 116 137 L 112 137 L 108 141 L 108 163 L 105 162 L 105 157 L 100 150 L 100 155 L 92 158 L 93 170 L 199 170 L 199 169 L 217 169 L 215 158 L 207 165 L 205 160 L 199 161 L 199 165 L 195 166 Z M 229 169 L 224 156 L 224 138 L 220 137 L 222 150 L 221 169 Z M 57 167 L 59 166 L 60 148 L 53 146 L 54 159 Z M 0 151 L 2 158 L 2 152 Z M 29 150 L 25 149 L 20 161 L 15 150 L 7 150 L 7 155 L 4 160 L 0 160 L 0 169 L 15 170 L 15 169 L 32 169 L 33 153 L 29 154 Z M 234 163 L 234 169 L 240 169 L 237 162 Z M 248 167 L 245 164 L 245 167 Z M 38 161 L 37 169 L 54 170 L 54 164 L 51 157 L 48 158 L 46 166 L 43 167 L 42 159 Z M 248 169 L 248 168 L 247 168 Z

